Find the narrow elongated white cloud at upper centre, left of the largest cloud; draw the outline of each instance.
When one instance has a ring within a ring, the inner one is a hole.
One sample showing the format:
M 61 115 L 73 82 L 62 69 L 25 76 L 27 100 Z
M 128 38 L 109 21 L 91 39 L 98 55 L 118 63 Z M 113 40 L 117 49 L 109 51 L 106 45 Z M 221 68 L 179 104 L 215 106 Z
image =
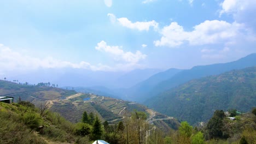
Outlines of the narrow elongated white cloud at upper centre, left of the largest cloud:
M 108 14 L 109 19 L 112 23 L 118 22 L 121 26 L 131 28 L 131 29 L 138 29 L 139 31 L 148 31 L 150 27 L 154 29 L 158 29 L 158 23 L 154 20 L 146 21 L 146 22 L 131 22 L 126 17 L 117 18 L 114 14 Z

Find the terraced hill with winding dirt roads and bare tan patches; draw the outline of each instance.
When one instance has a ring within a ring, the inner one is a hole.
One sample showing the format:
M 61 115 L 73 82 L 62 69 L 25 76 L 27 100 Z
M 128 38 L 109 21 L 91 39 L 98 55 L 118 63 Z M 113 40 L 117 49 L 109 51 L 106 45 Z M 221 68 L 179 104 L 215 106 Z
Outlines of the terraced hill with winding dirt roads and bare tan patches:
M 101 121 L 108 121 L 111 124 L 117 124 L 123 121 L 124 116 L 131 116 L 133 111 L 145 112 L 148 121 L 156 124 L 158 127 L 166 125 L 166 131 L 177 129 L 179 122 L 172 118 L 158 119 L 156 116 L 161 115 L 158 112 L 152 112 L 148 107 L 95 94 L 77 93 L 62 88 L 39 87 L 30 85 L 19 85 L 18 83 L 0 80 L 0 96 L 14 97 L 14 101 L 21 100 L 31 101 L 36 106 L 47 104 L 53 112 L 58 112 L 73 123 L 81 122 L 83 112 L 94 113 L 98 115 Z M 159 124 L 161 123 L 161 124 Z

